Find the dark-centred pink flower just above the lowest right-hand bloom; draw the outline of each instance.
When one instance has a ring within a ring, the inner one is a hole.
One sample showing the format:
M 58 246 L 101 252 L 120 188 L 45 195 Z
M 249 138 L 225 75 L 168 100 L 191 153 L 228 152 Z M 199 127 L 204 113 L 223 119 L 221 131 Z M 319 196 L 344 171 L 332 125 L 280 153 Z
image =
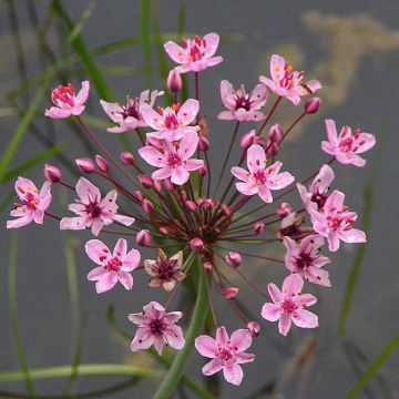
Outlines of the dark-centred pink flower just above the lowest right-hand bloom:
M 330 262 L 327 256 L 319 254 L 324 237 L 318 234 L 308 235 L 299 244 L 289 237 L 284 237 L 283 243 L 287 248 L 285 265 L 288 270 L 299 274 L 310 283 L 325 287 L 331 286 L 328 272 L 320 269 Z

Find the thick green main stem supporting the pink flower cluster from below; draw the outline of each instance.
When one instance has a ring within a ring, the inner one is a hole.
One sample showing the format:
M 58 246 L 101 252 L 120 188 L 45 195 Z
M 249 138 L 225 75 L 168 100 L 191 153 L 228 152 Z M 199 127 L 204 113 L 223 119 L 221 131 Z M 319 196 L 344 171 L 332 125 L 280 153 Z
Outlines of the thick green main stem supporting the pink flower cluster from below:
M 198 293 L 193 316 L 185 336 L 185 346 L 181 351 L 178 351 L 178 354 L 174 358 L 170 370 L 167 371 L 160 388 L 155 392 L 154 399 L 166 399 L 172 397 L 172 393 L 174 392 L 180 379 L 182 378 L 182 374 L 185 365 L 190 359 L 190 355 L 193 351 L 194 339 L 202 332 L 202 329 L 204 327 L 208 313 L 208 300 L 206 295 L 206 276 L 203 267 L 201 267 L 200 264 L 198 266 Z

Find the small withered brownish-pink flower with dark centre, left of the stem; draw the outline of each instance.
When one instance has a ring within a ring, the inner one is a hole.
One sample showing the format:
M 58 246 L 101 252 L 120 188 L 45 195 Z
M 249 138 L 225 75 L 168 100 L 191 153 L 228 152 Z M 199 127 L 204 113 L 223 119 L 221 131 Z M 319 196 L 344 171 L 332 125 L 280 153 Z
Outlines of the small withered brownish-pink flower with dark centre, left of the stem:
M 167 257 L 167 255 L 158 248 L 157 259 L 144 260 L 145 272 L 151 276 L 149 287 L 156 288 L 163 286 L 167 291 L 171 291 L 177 282 L 186 277 L 182 273 L 183 252 Z

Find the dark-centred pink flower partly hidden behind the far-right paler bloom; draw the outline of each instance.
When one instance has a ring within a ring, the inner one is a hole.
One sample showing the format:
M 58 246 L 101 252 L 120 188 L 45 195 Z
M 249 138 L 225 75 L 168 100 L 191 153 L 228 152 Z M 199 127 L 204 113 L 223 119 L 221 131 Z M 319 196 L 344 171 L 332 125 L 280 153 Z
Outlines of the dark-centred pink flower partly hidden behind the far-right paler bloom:
M 306 209 L 323 209 L 327 198 L 328 188 L 334 181 L 334 171 L 328 165 L 323 165 L 319 173 L 309 186 L 309 191 L 304 185 L 297 183 L 299 195 Z

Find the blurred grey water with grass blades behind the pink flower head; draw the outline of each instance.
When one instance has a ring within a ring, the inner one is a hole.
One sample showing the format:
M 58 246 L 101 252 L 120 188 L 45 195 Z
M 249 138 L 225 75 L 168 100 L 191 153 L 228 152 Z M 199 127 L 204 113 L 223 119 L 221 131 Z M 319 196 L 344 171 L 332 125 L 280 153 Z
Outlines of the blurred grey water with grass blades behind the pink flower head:
M 315 311 L 320 328 L 291 329 L 284 338 L 276 325 L 263 323 L 262 335 L 250 348 L 256 360 L 245 365 L 243 383 L 235 388 L 212 378 L 207 387 L 217 398 L 346 397 L 398 336 L 398 17 L 399 2 L 393 0 L 0 2 L 0 397 L 32 397 L 23 378 L 11 382 L 4 375 L 24 367 L 112 362 L 163 370 L 153 357 L 132 355 L 129 339 L 110 324 L 112 305 L 117 326 L 133 336 L 127 314 L 140 311 L 151 299 L 165 298 L 146 288 L 144 274 L 136 274 L 132 291 L 117 287 L 96 295 L 86 280 L 92 267 L 83 248 L 89 233 L 59 232 L 51 219 L 16 233 L 6 229 L 6 221 L 18 175 L 40 185 L 42 165 L 50 162 L 62 167 L 72 183 L 78 177 L 73 160 L 93 154 L 76 124 L 44 119 L 53 86 L 91 81 L 85 121 L 117 154 L 126 143 L 105 133 L 110 123 L 99 99 L 123 103 L 126 94 L 134 98 L 147 88 L 164 88 L 163 78 L 174 64 L 162 43 L 212 31 L 222 37 L 217 54 L 224 62 L 201 74 L 201 112 L 207 115 L 215 168 L 221 167 L 219 151 L 227 146 L 234 127 L 215 119 L 223 110 L 219 81 L 252 89 L 259 74 L 269 74 L 273 53 L 323 83 L 319 112 L 296 129 L 282 151 L 286 170 L 300 180 L 328 161 L 319 150 L 326 136 L 325 117 L 336 120 L 338 126 L 374 133 L 377 145 L 366 154 L 365 168 L 334 165 L 334 187 L 344 191 L 349 207 L 359 212 L 368 243 L 345 245 L 331 254 L 331 288 L 307 286 L 319 298 Z M 187 90 L 193 93 L 191 74 Z M 287 126 L 301 112 L 299 108 L 285 103 L 274 121 Z M 72 200 L 58 188 L 53 190 L 55 211 Z M 296 193 L 291 201 L 298 202 Z M 109 243 L 113 245 L 112 239 Z M 284 254 L 280 246 L 257 250 Z M 154 253 L 149 252 L 149 257 Z M 246 259 L 245 267 L 264 287 L 269 282 L 279 285 L 286 275 L 282 266 L 253 258 Z M 262 297 L 244 285 L 241 288 L 242 303 L 257 315 Z M 180 300 L 175 299 L 176 308 Z M 241 327 L 228 304 L 221 299 L 216 308 L 231 330 Z M 399 398 L 395 345 L 359 397 Z M 194 352 L 187 374 L 200 385 L 205 383 L 202 365 L 203 358 Z M 33 380 L 37 396 L 45 398 L 88 392 L 94 398 L 105 393 L 151 398 L 158 383 L 155 377 L 123 376 Z M 113 386 L 111 392 L 102 391 Z M 181 388 L 175 397 L 196 396 Z

